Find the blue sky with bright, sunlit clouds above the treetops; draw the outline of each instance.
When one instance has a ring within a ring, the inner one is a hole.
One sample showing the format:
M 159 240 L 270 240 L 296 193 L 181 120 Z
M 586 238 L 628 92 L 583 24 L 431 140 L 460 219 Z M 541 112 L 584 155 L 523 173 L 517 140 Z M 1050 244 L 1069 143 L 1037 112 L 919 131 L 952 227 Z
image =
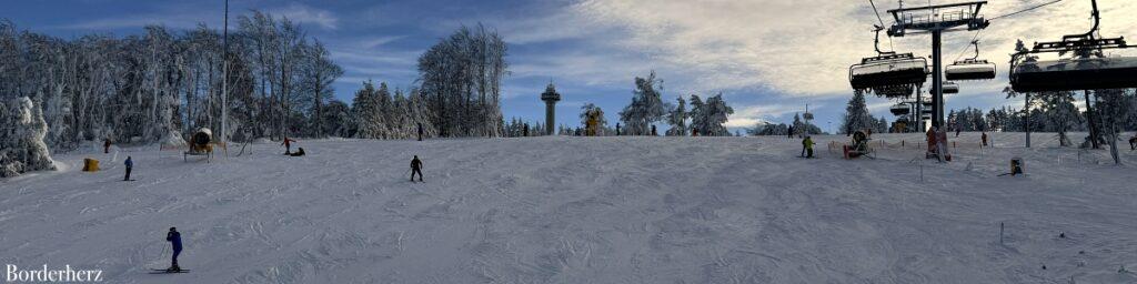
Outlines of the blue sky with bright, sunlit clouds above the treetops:
M 985 14 L 994 17 L 1049 1 L 991 0 Z M 1137 36 L 1132 17 L 1137 1 L 1099 2 L 1103 35 Z M 895 8 L 896 2 L 878 1 L 878 6 Z M 1003 62 L 1014 40 L 1030 43 L 1084 33 L 1089 26 L 1088 7 L 1088 0 L 1065 0 L 994 20 L 977 37 L 982 41 L 984 57 L 1001 64 L 998 78 L 962 83 L 961 93 L 947 98 L 947 107 L 1021 106 L 1021 100 L 999 94 L 1006 85 Z M 198 23 L 219 27 L 222 9 L 222 0 L 8 1 L 0 18 L 23 30 L 70 39 L 89 33 L 135 34 L 147 24 L 175 30 Z M 250 9 L 299 22 L 309 37 L 327 44 L 346 70 L 335 84 L 337 97 L 346 101 L 366 80 L 406 89 L 417 76 L 415 61 L 426 48 L 462 25 L 483 23 L 509 44 L 512 75 L 504 82 L 501 102 L 507 118 L 543 120 L 539 95 L 551 81 L 564 98 L 558 123 L 579 123 L 579 107 L 586 102 L 600 106 L 608 120 L 616 122 L 616 114 L 630 101 L 633 78 L 655 70 L 664 80 L 667 101 L 722 92 L 736 110 L 728 123 L 735 130 L 758 120 L 789 122 L 806 103 L 818 117 L 815 124 L 837 127 L 852 95 L 848 66 L 874 55 L 870 28 L 877 23 L 868 1 L 231 0 L 231 27 L 236 15 Z M 945 35 L 945 60 L 965 53 L 974 35 Z M 931 53 L 928 36 L 894 39 L 890 45 L 918 56 Z M 890 103 L 869 99 L 870 110 L 878 116 L 887 115 Z

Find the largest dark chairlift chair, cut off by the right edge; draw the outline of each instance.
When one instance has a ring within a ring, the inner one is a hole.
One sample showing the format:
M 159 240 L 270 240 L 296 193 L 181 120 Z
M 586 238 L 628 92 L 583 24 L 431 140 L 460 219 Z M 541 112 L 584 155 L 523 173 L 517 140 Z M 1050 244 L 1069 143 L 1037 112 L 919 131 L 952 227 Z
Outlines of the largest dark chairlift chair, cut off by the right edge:
M 1094 26 L 1062 41 L 1035 43 L 1012 56 L 1011 89 L 1015 92 L 1079 91 L 1137 87 L 1137 57 L 1106 57 L 1104 50 L 1132 48 L 1124 37 L 1098 39 L 1101 16 L 1090 0 Z M 1072 53 L 1072 58 L 1039 60 L 1037 53 Z

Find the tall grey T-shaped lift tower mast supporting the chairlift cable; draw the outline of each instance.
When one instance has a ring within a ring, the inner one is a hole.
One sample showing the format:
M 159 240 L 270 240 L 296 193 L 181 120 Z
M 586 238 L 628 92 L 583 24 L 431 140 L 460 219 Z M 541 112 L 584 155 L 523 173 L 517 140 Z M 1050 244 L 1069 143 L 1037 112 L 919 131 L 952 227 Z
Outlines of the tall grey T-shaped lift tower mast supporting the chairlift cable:
M 944 125 L 944 60 L 941 52 L 941 35 L 944 32 L 979 31 L 987 28 L 990 22 L 979 15 L 979 9 L 987 1 L 911 7 L 888 10 L 896 20 L 888 28 L 889 36 L 911 34 L 931 34 L 932 57 L 932 126 Z

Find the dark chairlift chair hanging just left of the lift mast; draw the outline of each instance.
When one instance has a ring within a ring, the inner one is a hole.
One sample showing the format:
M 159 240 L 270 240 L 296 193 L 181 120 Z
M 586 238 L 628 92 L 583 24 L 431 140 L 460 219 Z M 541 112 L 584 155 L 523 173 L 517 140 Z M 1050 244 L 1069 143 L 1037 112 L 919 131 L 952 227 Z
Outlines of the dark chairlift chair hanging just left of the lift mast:
M 854 90 L 871 91 L 877 95 L 908 97 L 916 85 L 928 80 L 928 60 L 912 53 L 880 51 L 880 31 L 875 26 L 873 40 L 877 56 L 861 59 L 849 66 L 849 84 Z

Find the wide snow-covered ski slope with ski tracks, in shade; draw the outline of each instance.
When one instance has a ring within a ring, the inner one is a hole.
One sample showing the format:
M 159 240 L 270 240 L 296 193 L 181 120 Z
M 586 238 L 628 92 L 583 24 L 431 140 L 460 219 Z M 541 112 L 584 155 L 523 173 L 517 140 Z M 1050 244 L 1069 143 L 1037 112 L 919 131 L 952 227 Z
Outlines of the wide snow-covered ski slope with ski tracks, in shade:
M 858 160 L 827 150 L 844 135 L 818 136 L 819 159 L 783 137 L 57 154 L 58 172 L 0 181 L 0 262 L 113 283 L 1137 283 L 1119 273 L 1137 270 L 1137 152 L 1118 167 L 1054 134 L 982 152 L 978 136 L 951 164 L 914 159 L 920 134 L 874 135 L 908 148 Z M 136 182 L 119 182 L 127 154 Z M 407 181 L 413 154 L 426 183 Z M 996 176 L 1014 156 L 1027 176 Z M 111 168 L 81 173 L 84 157 Z M 171 226 L 193 273 L 148 274 Z

